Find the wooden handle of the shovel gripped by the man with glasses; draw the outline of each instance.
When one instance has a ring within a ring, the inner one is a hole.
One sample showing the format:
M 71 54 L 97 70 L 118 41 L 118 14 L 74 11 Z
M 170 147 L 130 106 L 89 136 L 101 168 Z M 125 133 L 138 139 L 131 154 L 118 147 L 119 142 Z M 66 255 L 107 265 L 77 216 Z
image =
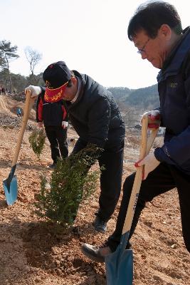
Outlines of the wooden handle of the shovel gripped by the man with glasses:
M 158 129 L 151 130 L 151 134 L 147 140 L 147 129 L 148 129 L 148 121 L 149 118 L 147 116 L 144 116 L 142 118 L 142 138 L 141 138 L 141 145 L 140 145 L 140 153 L 139 153 L 139 160 L 142 160 L 148 153 L 149 150 L 152 147 L 152 143 L 154 142 L 154 139 L 157 136 Z M 130 203 L 127 208 L 127 214 L 125 217 L 125 223 L 122 229 L 122 234 L 125 234 L 125 232 L 130 232 L 131 225 L 132 225 L 132 219 L 134 217 L 134 210 L 136 208 L 137 199 L 139 197 L 139 190 L 142 183 L 142 171 L 143 171 L 143 165 L 140 167 L 137 167 L 137 172 L 134 177 L 134 183 L 132 187 L 132 193 L 130 197 Z

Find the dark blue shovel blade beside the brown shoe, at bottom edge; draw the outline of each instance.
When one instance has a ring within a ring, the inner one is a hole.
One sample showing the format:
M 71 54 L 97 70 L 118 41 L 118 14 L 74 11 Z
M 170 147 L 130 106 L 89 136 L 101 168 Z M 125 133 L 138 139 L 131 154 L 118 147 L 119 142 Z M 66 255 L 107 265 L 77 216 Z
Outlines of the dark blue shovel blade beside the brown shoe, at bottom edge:
M 120 250 L 118 247 L 115 252 L 105 257 L 107 285 L 132 285 L 132 249 L 125 249 L 122 254 Z

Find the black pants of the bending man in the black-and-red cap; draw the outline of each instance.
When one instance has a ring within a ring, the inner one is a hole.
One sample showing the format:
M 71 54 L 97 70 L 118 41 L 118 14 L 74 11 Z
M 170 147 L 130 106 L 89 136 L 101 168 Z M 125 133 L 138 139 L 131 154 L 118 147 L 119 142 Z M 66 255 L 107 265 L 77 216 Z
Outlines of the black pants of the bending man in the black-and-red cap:
M 87 145 L 81 139 L 75 144 L 73 153 L 82 150 Z M 104 166 L 100 174 L 100 197 L 97 215 L 107 222 L 117 205 L 122 187 L 124 140 L 115 147 L 106 148 L 100 155 L 99 165 Z

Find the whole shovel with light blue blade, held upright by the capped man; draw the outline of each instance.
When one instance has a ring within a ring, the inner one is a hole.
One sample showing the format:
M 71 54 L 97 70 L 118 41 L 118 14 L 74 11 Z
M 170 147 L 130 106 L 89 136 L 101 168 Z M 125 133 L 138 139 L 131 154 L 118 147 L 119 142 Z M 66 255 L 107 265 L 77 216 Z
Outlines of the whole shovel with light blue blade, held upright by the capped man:
M 31 92 L 27 91 L 26 92 L 26 101 L 23 109 L 23 120 L 22 120 L 22 125 L 21 125 L 21 130 L 19 133 L 19 138 L 16 144 L 16 150 L 14 152 L 14 158 L 11 164 L 11 172 L 9 173 L 9 177 L 3 181 L 4 185 L 4 192 L 5 192 L 5 197 L 6 197 L 6 203 L 8 205 L 14 204 L 14 202 L 17 199 L 18 195 L 18 186 L 17 186 L 17 179 L 16 175 L 14 175 L 14 172 L 16 170 L 16 162 L 19 157 L 19 152 L 21 149 L 21 144 L 23 140 L 23 133 L 26 129 L 26 124 L 28 121 L 28 115 L 30 113 L 30 110 L 33 106 L 34 103 L 34 98 L 31 98 Z

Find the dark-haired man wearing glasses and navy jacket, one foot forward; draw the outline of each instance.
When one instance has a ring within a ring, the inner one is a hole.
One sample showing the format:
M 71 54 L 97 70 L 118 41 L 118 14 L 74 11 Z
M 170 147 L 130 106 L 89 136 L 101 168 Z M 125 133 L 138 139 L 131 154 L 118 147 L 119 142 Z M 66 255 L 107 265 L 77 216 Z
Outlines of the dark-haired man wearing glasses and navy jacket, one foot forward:
M 157 76 L 160 108 L 147 115 L 154 119 L 156 113 L 166 127 L 164 145 L 135 164 L 136 167 L 144 165 L 144 177 L 130 237 L 146 202 L 176 187 L 184 243 L 190 252 L 190 28 L 182 30 L 174 6 L 164 1 L 151 1 L 139 6 L 132 16 L 128 37 L 142 59 L 160 69 Z M 104 247 L 83 244 L 83 253 L 90 259 L 103 262 L 120 244 L 134 175 L 127 177 L 123 185 L 115 232 L 107 244 Z

